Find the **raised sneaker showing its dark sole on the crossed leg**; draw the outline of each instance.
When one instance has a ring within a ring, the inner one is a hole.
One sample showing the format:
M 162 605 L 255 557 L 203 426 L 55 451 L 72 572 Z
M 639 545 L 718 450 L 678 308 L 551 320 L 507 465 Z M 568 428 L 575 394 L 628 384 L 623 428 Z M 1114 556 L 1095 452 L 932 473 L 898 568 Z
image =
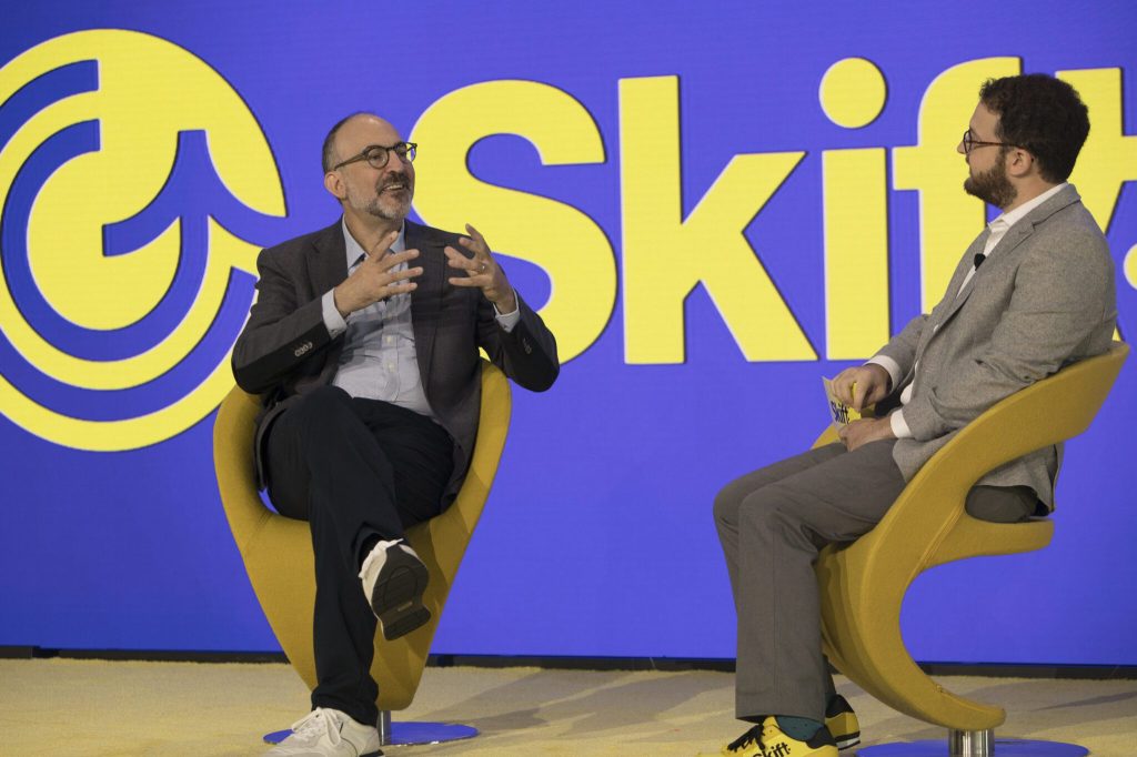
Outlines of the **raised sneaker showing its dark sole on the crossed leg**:
M 423 607 L 430 573 L 415 550 L 402 540 L 375 544 L 363 561 L 359 579 L 388 641 L 430 621 L 430 610 Z

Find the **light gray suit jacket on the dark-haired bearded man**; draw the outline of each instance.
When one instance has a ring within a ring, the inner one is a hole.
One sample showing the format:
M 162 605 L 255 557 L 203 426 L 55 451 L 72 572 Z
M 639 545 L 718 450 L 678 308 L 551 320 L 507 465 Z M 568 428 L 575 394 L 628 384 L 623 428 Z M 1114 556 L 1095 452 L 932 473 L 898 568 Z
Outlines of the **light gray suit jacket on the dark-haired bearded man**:
M 882 350 L 904 378 L 881 408 L 904 407 L 912 439 L 893 457 L 911 480 L 963 426 L 1001 399 L 1104 352 L 1117 322 L 1113 261 L 1093 216 L 1073 185 L 1011 227 L 956 296 L 989 232 L 971 243 L 947 292 L 932 311 L 914 318 Z M 1048 447 L 1003 465 L 979 483 L 1027 485 L 1053 509 L 1061 450 Z

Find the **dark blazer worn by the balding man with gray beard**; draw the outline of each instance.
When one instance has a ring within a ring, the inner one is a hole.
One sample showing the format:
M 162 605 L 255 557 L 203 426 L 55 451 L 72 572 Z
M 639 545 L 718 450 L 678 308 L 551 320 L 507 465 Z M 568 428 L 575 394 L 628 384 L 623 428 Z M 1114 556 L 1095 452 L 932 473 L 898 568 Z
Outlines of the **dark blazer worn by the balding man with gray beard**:
M 522 386 L 548 389 L 559 372 L 557 346 L 541 317 L 521 296 L 521 319 L 512 332 L 498 325 L 481 290 L 447 282 L 454 271 L 442 248 L 458 236 L 406 222 L 406 248 L 417 249 L 423 267 L 410 294 L 410 319 L 423 390 L 438 421 L 455 441 L 454 473 L 445 502 L 458 491 L 470 466 L 481 409 L 479 348 Z M 265 479 L 265 433 L 281 413 L 307 391 L 331 383 L 343 335 L 324 326 L 321 298 L 347 278 L 341 223 L 263 250 L 257 258 L 257 301 L 233 348 L 233 375 L 247 392 L 263 394 L 257 418 L 258 483 Z

